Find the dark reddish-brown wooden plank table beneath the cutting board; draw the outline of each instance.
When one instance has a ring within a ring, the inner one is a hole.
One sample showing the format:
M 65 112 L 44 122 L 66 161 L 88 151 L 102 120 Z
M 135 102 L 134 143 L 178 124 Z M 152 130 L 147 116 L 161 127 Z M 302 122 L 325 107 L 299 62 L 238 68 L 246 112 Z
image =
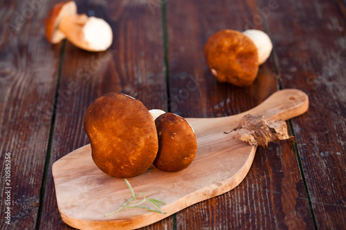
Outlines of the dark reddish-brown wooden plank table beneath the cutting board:
M 346 228 L 345 0 L 77 1 L 78 12 L 113 29 L 111 48 L 96 53 L 48 44 L 44 19 L 56 2 L 0 1 L 1 229 L 71 229 L 51 167 L 89 143 L 84 113 L 104 93 L 183 117 L 220 117 L 284 88 L 310 99 L 309 111 L 288 122 L 295 142 L 258 148 L 235 189 L 145 229 Z M 218 83 L 206 66 L 204 44 L 226 28 L 257 28 L 273 41 L 250 87 Z

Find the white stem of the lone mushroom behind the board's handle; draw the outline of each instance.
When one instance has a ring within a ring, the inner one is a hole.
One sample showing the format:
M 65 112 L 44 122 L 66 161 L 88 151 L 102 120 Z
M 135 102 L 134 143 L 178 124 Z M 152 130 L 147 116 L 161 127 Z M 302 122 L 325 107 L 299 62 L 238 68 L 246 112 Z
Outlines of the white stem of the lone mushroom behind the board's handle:
M 243 34 L 251 39 L 257 48 L 258 63 L 264 64 L 266 59 L 271 55 L 273 44 L 270 37 L 262 30 L 245 30 Z

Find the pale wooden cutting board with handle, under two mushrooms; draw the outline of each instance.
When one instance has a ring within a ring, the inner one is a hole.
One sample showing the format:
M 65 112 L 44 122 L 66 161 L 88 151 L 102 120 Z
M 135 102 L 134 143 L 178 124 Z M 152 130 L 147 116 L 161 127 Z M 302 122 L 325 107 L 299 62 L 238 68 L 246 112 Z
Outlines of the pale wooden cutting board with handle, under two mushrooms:
M 53 164 L 57 205 L 66 224 L 77 229 L 136 229 L 162 220 L 192 204 L 235 188 L 245 178 L 256 147 L 225 134 L 246 114 L 266 118 L 290 119 L 305 113 L 309 99 L 300 90 L 280 90 L 259 106 L 229 117 L 188 118 L 197 136 L 194 162 L 177 173 L 158 171 L 152 166 L 142 175 L 129 178 L 135 193 L 162 200 L 162 211 L 145 209 L 115 211 L 131 193 L 125 180 L 113 178 L 98 169 L 91 158 L 90 145 L 83 146 Z

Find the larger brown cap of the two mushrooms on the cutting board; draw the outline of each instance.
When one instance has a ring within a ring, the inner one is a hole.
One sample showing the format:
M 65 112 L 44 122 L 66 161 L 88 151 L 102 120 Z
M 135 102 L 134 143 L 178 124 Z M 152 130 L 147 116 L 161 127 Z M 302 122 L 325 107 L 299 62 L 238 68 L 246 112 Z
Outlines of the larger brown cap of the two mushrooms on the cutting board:
M 84 117 L 95 164 L 117 178 L 132 178 L 152 165 L 158 137 L 152 115 L 137 99 L 108 93 L 95 99 Z

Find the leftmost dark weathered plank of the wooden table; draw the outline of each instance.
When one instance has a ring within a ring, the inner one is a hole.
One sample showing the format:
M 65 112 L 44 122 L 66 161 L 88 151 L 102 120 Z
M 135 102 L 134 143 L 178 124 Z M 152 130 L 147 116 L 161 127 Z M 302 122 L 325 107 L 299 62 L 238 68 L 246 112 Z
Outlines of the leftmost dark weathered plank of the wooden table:
M 46 1 L 1 3 L 0 229 L 37 226 L 60 59 L 60 46 L 52 47 L 44 37 L 50 7 Z M 10 181 L 5 166 L 10 167 Z M 8 207 L 10 213 L 5 214 Z

